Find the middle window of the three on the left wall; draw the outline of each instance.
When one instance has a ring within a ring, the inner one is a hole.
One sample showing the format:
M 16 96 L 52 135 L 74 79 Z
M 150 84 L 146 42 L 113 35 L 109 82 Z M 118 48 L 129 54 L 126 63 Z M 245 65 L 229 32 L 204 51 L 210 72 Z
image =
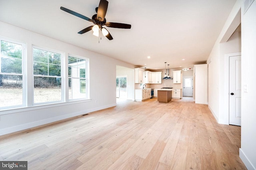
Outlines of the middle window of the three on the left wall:
M 61 53 L 33 48 L 35 104 L 62 101 L 61 59 Z

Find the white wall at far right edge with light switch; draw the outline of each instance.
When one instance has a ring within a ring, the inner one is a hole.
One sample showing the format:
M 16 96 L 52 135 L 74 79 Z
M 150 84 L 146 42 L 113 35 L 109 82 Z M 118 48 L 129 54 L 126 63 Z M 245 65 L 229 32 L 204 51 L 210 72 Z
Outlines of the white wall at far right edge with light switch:
M 242 10 L 243 11 L 243 10 Z M 248 169 L 256 169 L 256 1 L 242 18 L 242 120 L 240 158 Z M 247 85 L 248 92 L 243 91 Z

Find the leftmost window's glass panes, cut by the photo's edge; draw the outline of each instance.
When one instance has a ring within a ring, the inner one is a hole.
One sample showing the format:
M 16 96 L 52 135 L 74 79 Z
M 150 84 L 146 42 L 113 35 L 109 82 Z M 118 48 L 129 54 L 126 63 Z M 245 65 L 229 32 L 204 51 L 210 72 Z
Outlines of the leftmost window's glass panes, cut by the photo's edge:
M 0 39 L 0 108 L 24 105 L 24 45 Z

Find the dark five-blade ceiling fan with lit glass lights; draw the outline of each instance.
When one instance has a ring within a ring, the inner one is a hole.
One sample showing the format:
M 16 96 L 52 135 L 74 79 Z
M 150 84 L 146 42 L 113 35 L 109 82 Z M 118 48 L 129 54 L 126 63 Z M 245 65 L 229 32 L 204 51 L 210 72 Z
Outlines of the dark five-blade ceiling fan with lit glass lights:
M 72 10 L 69 10 L 67 8 L 64 7 L 60 7 L 61 10 L 68 12 L 74 16 L 77 16 L 79 18 L 82 18 L 84 20 L 90 21 L 93 24 L 95 24 L 94 26 L 89 26 L 87 28 L 84 28 L 83 30 L 81 30 L 80 32 L 78 32 L 78 34 L 84 34 L 90 30 L 92 30 L 94 33 L 93 35 L 95 36 L 99 36 L 99 30 L 102 31 L 102 34 L 104 36 L 106 36 L 106 38 L 108 38 L 108 40 L 113 40 L 113 37 L 110 35 L 110 33 L 108 32 L 108 30 L 106 28 L 104 28 L 103 26 L 107 26 L 110 28 L 124 28 L 124 29 L 130 29 L 131 25 L 130 24 L 122 24 L 122 23 L 116 23 L 116 22 L 106 22 L 106 12 L 108 9 L 108 1 L 107 0 L 100 0 L 100 4 L 99 7 L 95 8 L 96 13 L 92 16 L 92 19 L 83 16 L 82 14 L 78 14 L 77 12 L 74 12 Z

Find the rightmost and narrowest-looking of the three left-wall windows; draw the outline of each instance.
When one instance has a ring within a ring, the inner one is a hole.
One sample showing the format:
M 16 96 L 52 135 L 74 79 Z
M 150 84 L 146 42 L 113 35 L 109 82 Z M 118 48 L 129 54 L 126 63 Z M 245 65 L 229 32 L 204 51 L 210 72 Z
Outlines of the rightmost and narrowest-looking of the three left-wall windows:
M 88 59 L 68 56 L 68 99 L 83 99 L 88 97 L 86 79 Z

